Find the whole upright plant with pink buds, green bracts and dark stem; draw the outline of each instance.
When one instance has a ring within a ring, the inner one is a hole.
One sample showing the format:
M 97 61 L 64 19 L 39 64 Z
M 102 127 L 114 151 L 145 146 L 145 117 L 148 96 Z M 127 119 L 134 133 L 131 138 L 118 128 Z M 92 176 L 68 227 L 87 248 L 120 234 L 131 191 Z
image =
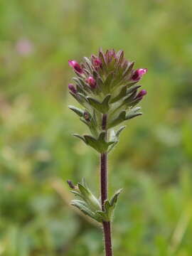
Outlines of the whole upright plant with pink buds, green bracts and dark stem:
M 109 200 L 107 196 L 107 154 L 119 142 L 119 134 L 125 126 L 118 127 L 125 121 L 142 114 L 136 105 L 146 95 L 146 90 L 139 90 L 139 80 L 147 72 L 146 68 L 134 70 L 134 63 L 124 58 L 124 52 L 107 50 L 98 55 L 84 58 L 79 64 L 69 60 L 76 77 L 74 84 L 69 84 L 70 94 L 75 97 L 82 109 L 69 106 L 80 120 L 90 129 L 90 134 L 74 134 L 100 154 L 100 190 L 101 199 L 97 199 L 84 180 L 74 186 L 68 181 L 72 192 L 78 199 L 73 206 L 102 223 L 105 235 L 105 254 L 112 256 L 111 221 L 117 198 L 121 190 Z

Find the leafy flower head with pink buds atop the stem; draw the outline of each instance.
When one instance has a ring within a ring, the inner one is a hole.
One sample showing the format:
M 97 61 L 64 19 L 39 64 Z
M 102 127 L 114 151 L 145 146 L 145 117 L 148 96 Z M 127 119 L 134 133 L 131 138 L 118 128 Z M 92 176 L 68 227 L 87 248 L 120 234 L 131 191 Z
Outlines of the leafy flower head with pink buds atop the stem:
M 90 129 L 91 134 L 76 137 L 91 146 L 99 153 L 110 151 L 119 141 L 119 130 L 114 127 L 124 121 L 142 114 L 140 107 L 135 107 L 146 94 L 145 90 L 138 92 L 141 85 L 137 82 L 146 73 L 146 69 L 133 69 L 134 63 L 124 59 L 124 52 L 99 50 L 98 56 L 84 58 L 79 64 L 69 60 L 76 77 L 74 85 L 69 85 L 70 94 L 75 97 L 82 109 L 69 106 L 80 120 Z M 106 114 L 105 129 L 102 125 L 103 114 Z M 122 129 L 120 129 L 121 131 Z

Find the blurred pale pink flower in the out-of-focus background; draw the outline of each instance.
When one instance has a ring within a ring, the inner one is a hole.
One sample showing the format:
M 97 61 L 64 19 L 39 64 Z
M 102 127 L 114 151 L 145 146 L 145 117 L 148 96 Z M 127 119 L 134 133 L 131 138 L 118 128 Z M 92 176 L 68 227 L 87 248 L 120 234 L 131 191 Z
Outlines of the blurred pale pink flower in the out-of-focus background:
M 33 53 L 33 44 L 26 38 L 19 39 L 16 43 L 16 51 L 23 56 Z

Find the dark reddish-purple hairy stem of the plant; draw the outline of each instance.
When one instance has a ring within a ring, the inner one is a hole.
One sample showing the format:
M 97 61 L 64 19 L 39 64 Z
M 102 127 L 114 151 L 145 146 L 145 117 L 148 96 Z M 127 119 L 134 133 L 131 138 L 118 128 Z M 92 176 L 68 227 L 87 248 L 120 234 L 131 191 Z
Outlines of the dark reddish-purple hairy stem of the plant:
M 106 130 L 107 114 L 102 117 L 102 129 Z M 106 131 L 107 136 L 107 131 Z M 107 200 L 107 152 L 100 154 L 100 188 L 101 188 L 101 201 L 102 210 L 104 209 L 105 200 Z M 112 256 L 112 233 L 110 221 L 103 221 L 103 232 L 105 238 L 105 255 Z

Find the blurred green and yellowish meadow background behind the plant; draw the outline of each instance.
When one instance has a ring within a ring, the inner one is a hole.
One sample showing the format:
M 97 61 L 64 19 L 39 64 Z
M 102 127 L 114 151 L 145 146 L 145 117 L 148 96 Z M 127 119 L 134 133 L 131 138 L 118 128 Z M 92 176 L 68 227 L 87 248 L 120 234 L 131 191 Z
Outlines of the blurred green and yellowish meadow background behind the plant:
M 110 155 L 115 256 L 192 255 L 192 1 L 0 3 L 0 255 L 102 256 L 65 180 L 99 194 L 98 156 L 70 134 L 68 59 L 123 49 L 148 95 Z M 76 103 L 75 103 L 76 105 Z

